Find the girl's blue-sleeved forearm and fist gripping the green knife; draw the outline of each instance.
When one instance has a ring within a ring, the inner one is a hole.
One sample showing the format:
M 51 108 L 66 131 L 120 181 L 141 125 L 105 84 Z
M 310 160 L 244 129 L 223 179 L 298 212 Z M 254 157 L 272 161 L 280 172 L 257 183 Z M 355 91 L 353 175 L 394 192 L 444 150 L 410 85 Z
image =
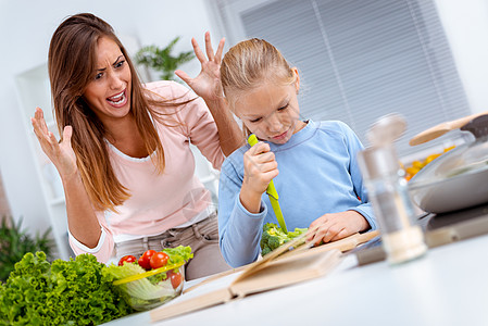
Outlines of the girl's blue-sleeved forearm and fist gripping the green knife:
M 263 221 L 267 214 L 262 196 L 278 175 L 270 145 L 260 141 L 243 153 L 246 149 L 239 149 L 224 162 L 218 183 L 221 251 L 227 263 L 235 267 L 252 263 L 260 254 Z M 232 163 L 238 155 L 242 160 L 240 168 Z M 238 172 L 242 170 L 243 176 Z

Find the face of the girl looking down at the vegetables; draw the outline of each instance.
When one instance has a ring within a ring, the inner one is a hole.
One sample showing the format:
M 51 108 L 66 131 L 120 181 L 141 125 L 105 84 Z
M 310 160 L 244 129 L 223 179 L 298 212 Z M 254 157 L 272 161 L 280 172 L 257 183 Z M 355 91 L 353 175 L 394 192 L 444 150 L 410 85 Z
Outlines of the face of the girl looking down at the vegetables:
M 300 109 L 297 92 L 300 86 L 298 71 L 293 68 L 296 82 L 283 86 L 270 82 L 256 89 L 240 95 L 234 103 L 235 114 L 259 139 L 285 143 L 300 130 Z

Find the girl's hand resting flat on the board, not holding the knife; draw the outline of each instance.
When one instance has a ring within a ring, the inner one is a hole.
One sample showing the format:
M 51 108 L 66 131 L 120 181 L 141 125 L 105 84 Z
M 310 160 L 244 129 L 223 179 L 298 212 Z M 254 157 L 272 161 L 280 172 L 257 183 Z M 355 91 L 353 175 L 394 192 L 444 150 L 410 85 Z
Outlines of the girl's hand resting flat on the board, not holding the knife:
M 367 228 L 366 218 L 355 211 L 325 214 L 310 224 L 306 241 L 318 246 L 321 241 L 336 241 Z

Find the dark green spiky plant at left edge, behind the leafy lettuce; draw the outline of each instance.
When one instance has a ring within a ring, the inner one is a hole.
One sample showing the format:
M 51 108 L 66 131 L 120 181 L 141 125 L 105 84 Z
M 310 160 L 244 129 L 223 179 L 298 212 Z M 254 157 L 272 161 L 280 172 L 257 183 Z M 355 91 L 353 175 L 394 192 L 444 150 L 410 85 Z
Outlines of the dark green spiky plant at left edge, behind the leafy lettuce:
M 22 230 L 22 218 L 17 224 L 11 217 L 3 217 L 0 226 L 0 280 L 4 281 L 15 263 L 21 261 L 25 253 L 43 251 L 48 256 L 51 253 L 52 240 L 49 237 L 50 229 L 41 236 L 33 238 Z

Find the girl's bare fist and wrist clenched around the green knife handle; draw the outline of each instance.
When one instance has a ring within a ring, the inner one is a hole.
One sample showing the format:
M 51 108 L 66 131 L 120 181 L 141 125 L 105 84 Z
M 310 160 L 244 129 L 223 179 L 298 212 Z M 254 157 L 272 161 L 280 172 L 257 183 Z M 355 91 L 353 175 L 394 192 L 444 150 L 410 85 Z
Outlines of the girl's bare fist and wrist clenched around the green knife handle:
M 258 142 L 243 155 L 245 177 L 240 189 L 240 201 L 251 213 L 259 213 L 261 196 L 270 181 L 278 175 L 278 163 L 270 145 Z

